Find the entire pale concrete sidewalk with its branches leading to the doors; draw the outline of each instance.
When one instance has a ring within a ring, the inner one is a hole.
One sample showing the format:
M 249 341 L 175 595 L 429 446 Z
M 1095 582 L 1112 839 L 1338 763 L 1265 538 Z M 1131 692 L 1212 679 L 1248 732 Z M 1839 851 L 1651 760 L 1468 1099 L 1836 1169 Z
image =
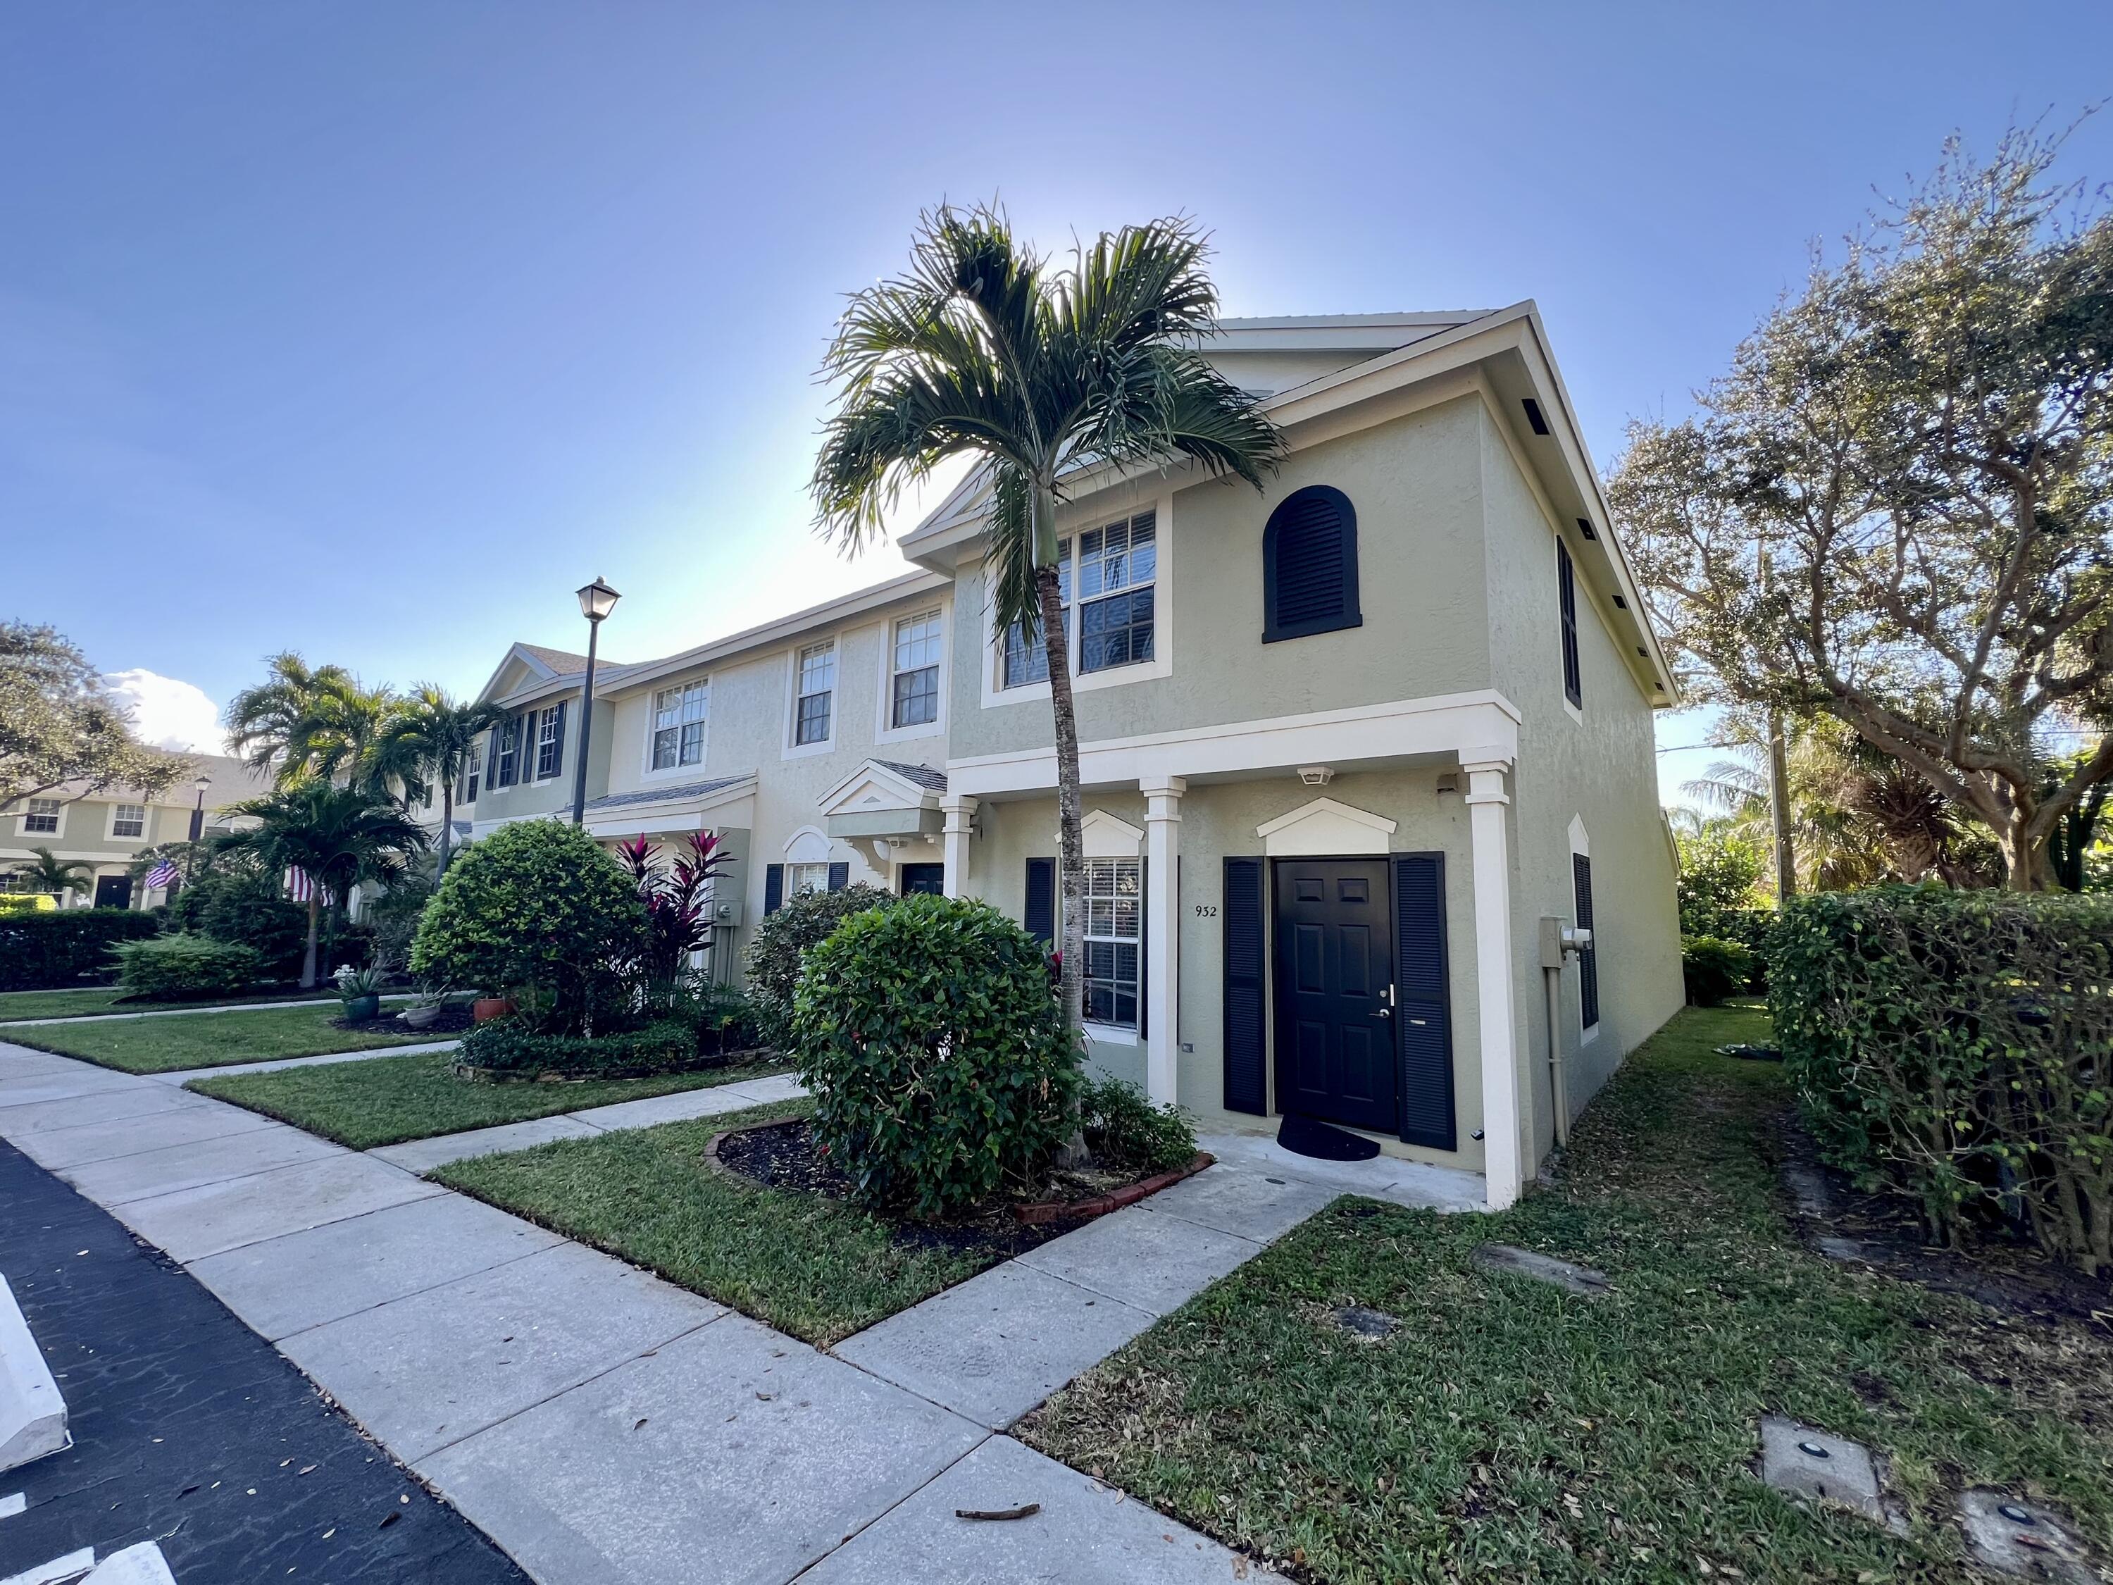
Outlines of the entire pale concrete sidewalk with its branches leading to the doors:
M 404 1145 L 340 1150 L 171 1084 L 0 1044 L 0 1137 L 182 1262 L 543 1585 L 1259 1579 L 1002 1429 L 1350 1188 L 1228 1160 L 822 1353 L 427 1183 Z M 1367 1179 L 1435 1202 L 1399 1162 Z M 955 1517 L 1023 1503 L 1042 1511 Z

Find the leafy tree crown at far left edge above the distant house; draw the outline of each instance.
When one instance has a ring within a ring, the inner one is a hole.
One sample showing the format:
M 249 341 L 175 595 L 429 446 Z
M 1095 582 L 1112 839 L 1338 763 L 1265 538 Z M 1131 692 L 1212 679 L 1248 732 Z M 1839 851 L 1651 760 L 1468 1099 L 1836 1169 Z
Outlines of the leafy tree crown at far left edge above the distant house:
M 0 621 L 0 807 L 80 784 L 146 797 L 190 776 L 190 761 L 133 738 L 101 674 L 55 628 Z

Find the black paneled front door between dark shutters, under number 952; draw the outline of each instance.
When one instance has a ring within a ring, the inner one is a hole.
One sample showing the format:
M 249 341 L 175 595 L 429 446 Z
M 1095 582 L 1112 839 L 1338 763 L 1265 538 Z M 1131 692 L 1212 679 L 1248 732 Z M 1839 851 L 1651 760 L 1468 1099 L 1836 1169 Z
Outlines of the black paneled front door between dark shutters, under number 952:
M 1276 1110 L 1395 1133 L 1395 926 L 1384 858 L 1278 858 Z

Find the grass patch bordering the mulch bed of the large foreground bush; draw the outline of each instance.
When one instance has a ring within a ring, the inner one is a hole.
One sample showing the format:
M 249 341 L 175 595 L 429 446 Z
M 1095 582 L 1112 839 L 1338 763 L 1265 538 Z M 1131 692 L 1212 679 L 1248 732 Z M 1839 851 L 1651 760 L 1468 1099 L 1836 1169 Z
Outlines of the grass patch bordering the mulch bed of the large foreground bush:
M 991 1264 L 896 1243 L 890 1224 L 864 1211 L 706 1167 L 704 1148 L 721 1129 L 807 1107 L 788 1101 L 562 1139 L 452 1162 L 431 1177 L 824 1346 Z

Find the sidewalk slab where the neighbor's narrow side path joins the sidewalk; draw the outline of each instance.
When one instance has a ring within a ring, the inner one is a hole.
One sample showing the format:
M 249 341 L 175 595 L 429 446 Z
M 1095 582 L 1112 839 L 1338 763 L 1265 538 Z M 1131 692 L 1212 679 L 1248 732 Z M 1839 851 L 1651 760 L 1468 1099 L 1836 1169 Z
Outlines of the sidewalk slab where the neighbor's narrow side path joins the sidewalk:
M 110 1211 L 171 1260 L 188 1264 L 262 1238 L 283 1238 L 328 1222 L 446 1194 L 437 1183 L 387 1162 L 353 1156 L 336 1145 L 325 1150 L 332 1152 L 328 1160 L 129 1200 Z

